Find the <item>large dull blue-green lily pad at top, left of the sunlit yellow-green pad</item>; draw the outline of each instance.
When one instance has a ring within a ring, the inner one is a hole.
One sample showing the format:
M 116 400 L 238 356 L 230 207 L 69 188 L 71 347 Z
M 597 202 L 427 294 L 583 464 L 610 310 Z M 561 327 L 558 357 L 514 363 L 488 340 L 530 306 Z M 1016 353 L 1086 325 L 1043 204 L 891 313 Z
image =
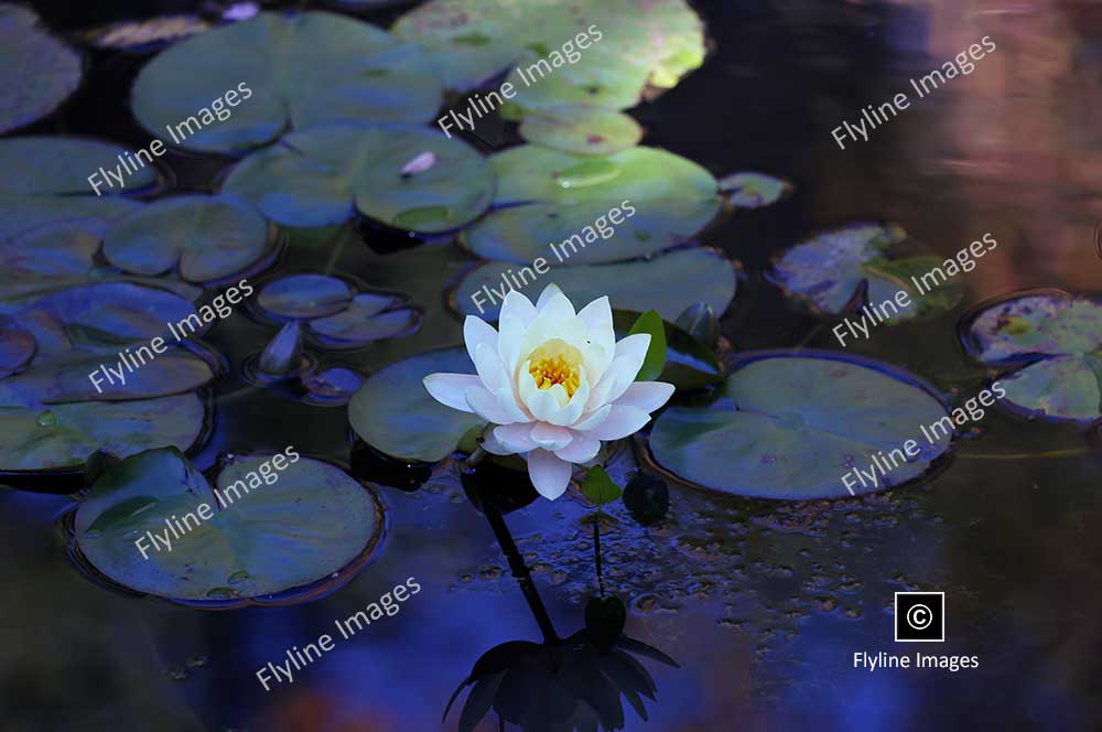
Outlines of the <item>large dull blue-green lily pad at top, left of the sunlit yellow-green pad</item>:
M 336 121 L 428 121 L 442 88 L 420 47 L 386 31 L 327 12 L 262 12 L 162 52 L 132 100 L 165 144 L 227 152 Z M 183 134 L 165 129 L 181 123 Z

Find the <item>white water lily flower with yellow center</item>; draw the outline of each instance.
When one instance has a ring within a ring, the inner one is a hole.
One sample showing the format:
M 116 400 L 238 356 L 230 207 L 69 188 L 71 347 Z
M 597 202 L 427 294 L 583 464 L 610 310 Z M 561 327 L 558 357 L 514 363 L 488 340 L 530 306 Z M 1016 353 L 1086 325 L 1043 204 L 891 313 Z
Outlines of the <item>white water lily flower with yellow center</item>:
M 617 343 L 608 298 L 575 313 L 555 284 L 534 305 L 512 290 L 498 327 L 468 315 L 463 340 L 478 375 L 430 374 L 424 386 L 436 401 L 495 424 L 483 449 L 527 455 L 532 484 L 547 498 L 566 489 L 571 463 L 637 432 L 673 395 L 672 384 L 635 380 L 650 335 Z

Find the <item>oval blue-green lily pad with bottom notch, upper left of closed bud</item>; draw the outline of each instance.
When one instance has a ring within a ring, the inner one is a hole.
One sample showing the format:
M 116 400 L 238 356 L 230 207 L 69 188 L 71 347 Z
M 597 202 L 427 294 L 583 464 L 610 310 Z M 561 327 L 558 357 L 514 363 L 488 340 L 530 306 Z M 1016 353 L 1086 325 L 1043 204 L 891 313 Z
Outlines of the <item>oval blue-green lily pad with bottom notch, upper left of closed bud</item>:
M 191 282 L 209 282 L 256 265 L 268 252 L 268 223 L 255 208 L 209 196 L 162 198 L 115 224 L 104 256 L 137 274 L 177 267 Z

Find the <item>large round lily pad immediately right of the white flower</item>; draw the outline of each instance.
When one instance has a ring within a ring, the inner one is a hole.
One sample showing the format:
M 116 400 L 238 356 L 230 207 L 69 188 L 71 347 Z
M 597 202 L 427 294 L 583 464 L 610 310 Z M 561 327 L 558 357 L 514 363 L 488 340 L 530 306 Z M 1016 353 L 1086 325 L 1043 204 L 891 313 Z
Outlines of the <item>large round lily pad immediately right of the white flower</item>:
M 763 498 L 834 498 L 842 477 L 873 471 L 873 456 L 918 456 L 876 473 L 854 494 L 900 485 L 925 473 L 949 446 L 922 427 L 946 418 L 942 403 L 909 375 L 875 362 L 825 353 L 746 356 L 705 408 L 671 407 L 655 421 L 650 449 L 659 465 L 704 487 Z M 883 456 L 880 458 L 883 459 Z

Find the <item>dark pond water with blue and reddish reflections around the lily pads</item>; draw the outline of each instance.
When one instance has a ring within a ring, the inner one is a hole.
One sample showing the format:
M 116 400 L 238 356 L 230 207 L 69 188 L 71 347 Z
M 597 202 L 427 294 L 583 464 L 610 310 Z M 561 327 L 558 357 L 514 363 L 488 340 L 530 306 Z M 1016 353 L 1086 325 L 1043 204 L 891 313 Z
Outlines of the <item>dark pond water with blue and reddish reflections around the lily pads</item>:
M 119 15 L 139 10 L 118 4 Z M 715 174 L 760 170 L 797 186 L 779 205 L 728 219 L 705 238 L 748 272 L 722 321 L 736 349 L 832 347 L 829 325 L 796 313 L 759 272 L 807 234 L 854 219 L 898 222 L 943 256 L 984 232 L 997 235 L 998 255 L 968 276 L 962 308 L 851 348 L 947 392 L 975 392 L 985 376 L 960 346 L 957 323 L 966 306 L 1038 287 L 1098 293 L 1102 13 L 1094 6 L 694 6 L 714 51 L 676 89 L 634 110 L 646 142 Z M 105 20 L 91 4 L 42 7 L 61 28 Z M 839 149 L 831 130 L 843 118 L 854 120 L 862 106 L 890 98 L 983 35 L 998 50 L 974 74 L 915 101 L 868 142 Z M 79 97 L 32 131 L 142 144 L 119 111 L 140 57 L 89 62 Z M 222 168 L 179 155 L 170 164 L 185 190 L 204 190 Z M 404 246 L 386 233 L 358 235 L 379 251 Z M 303 244 L 281 263 L 287 271 L 325 266 L 331 249 Z M 439 302 L 451 273 L 395 265 L 355 237 L 334 266 L 420 302 Z M 411 338 L 333 360 L 371 370 L 425 344 L 457 342 L 457 322 L 435 308 Z M 210 342 L 239 374 L 273 332 L 235 315 Z M 239 377 L 224 380 L 216 398 L 202 467 L 222 452 L 288 443 L 349 463 L 341 408 L 307 407 Z M 622 451 L 611 472 L 623 476 L 631 460 Z M 625 729 L 1099 729 L 1100 467 L 1096 429 L 992 410 L 943 470 L 905 489 L 769 503 L 670 481 L 670 514 L 657 527 L 613 508 L 602 535 L 606 590 L 628 604 L 627 633 L 680 664 L 644 660 L 658 701 L 648 702 L 648 722 L 628 710 Z M 380 478 L 372 470 L 358 474 Z M 455 729 L 456 710 L 443 728 L 440 719 L 474 661 L 498 644 L 539 639 L 539 628 L 453 465 L 415 492 L 378 488 L 387 536 L 352 583 L 309 604 L 234 612 L 196 612 L 90 582 L 55 528 L 68 498 L 0 493 L 0 730 Z M 588 515 L 571 492 L 507 517 L 563 636 L 583 626 L 594 591 Z M 284 649 L 332 633 L 335 618 L 410 577 L 422 591 L 399 614 L 339 643 L 293 685 L 264 692 L 257 682 L 256 671 L 282 660 Z M 854 653 L 914 653 L 893 643 L 893 593 L 901 590 L 946 592 L 948 640 L 937 653 L 977 656 L 979 668 L 853 668 Z M 477 729 L 496 725 L 486 720 Z

